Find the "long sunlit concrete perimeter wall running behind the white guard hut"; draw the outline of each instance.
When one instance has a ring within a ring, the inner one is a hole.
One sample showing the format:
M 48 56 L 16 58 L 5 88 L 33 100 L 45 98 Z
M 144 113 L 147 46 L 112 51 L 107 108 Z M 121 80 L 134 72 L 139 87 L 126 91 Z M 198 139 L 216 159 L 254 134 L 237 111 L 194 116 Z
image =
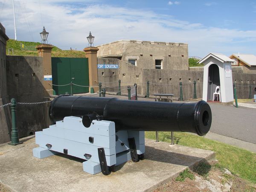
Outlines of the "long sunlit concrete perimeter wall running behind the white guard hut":
M 193 98 L 194 94 L 193 81 L 196 81 L 197 97 L 202 98 L 204 77 L 204 72 L 202 71 L 203 67 L 192 67 L 192 70 L 191 68 L 190 70 L 142 69 L 140 67 L 136 67 L 132 64 L 113 58 L 98 58 L 98 63 L 119 64 L 119 69 L 98 69 L 99 82 L 102 82 L 103 85 L 108 86 L 105 87 L 108 91 L 117 92 L 118 80 L 120 79 L 121 89 L 126 89 L 128 85 L 133 86 L 134 83 L 137 83 L 138 94 L 146 95 L 146 82 L 150 81 L 150 95 L 153 95 L 154 93 L 172 93 L 174 94 L 174 97 L 179 97 L 179 83 L 181 81 L 183 83 L 183 99 L 190 99 Z M 241 67 L 233 71 L 241 71 Z M 238 85 L 256 85 L 256 73 L 233 72 L 232 75 L 233 82 L 236 81 Z M 127 93 L 127 91 L 122 93 Z M 249 87 L 237 86 L 237 93 L 239 99 L 248 98 Z M 252 89 L 252 95 L 253 94 L 256 94 L 254 88 Z

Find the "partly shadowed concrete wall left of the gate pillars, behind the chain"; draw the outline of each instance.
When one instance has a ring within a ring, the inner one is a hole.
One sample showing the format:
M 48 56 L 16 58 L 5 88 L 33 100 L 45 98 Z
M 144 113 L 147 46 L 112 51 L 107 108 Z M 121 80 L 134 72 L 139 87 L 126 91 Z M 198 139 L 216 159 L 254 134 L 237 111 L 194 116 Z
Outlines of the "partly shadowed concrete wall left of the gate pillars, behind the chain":
M 42 102 L 43 58 L 6 56 L 8 94 L 17 102 Z M 48 105 L 17 105 L 17 128 L 20 137 L 35 134 L 48 126 Z

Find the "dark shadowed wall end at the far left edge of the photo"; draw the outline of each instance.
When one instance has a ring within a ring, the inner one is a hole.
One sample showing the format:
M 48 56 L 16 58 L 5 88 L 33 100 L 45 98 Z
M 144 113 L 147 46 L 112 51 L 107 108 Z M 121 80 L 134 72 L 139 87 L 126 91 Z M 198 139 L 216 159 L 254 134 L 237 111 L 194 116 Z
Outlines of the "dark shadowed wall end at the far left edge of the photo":
M 5 28 L 0 23 L 0 106 L 9 103 L 6 77 L 6 41 Z M 0 108 L 0 144 L 10 141 L 11 119 L 9 107 Z

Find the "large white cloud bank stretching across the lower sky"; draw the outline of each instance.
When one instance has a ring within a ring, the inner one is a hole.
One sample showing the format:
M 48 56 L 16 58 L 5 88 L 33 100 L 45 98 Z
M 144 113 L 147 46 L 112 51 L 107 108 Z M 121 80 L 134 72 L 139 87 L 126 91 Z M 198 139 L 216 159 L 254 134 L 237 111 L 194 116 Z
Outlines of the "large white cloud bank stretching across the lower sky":
M 7 1 L 6 1 L 7 2 Z M 8 1 L 9 2 L 9 1 Z M 60 0 L 39 3 L 15 0 L 17 39 L 41 41 L 43 26 L 49 43 L 61 49 L 87 47 L 89 32 L 94 44 L 121 39 L 189 43 L 189 55 L 203 57 L 208 52 L 230 55 L 243 50 L 256 54 L 256 31 L 207 27 L 201 23 L 177 20 L 144 9 L 126 9 L 105 4 L 60 4 Z M 68 1 L 67 1 L 68 2 Z M 1 7 L 1 3 L 0 3 Z M 0 18 L 9 38 L 14 38 L 12 2 L 6 3 Z M 252 46 L 246 46 L 251 44 Z M 254 51 L 254 52 L 252 52 Z

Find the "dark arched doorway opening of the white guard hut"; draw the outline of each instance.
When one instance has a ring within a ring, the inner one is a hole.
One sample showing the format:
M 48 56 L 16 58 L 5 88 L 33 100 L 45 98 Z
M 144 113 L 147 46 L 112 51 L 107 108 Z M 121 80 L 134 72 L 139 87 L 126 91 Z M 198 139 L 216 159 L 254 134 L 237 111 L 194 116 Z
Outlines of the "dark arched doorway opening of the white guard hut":
M 212 101 L 213 93 L 216 90 L 217 86 L 220 86 L 220 72 L 218 69 L 218 65 L 211 64 L 208 68 L 208 94 L 207 94 L 207 101 Z

